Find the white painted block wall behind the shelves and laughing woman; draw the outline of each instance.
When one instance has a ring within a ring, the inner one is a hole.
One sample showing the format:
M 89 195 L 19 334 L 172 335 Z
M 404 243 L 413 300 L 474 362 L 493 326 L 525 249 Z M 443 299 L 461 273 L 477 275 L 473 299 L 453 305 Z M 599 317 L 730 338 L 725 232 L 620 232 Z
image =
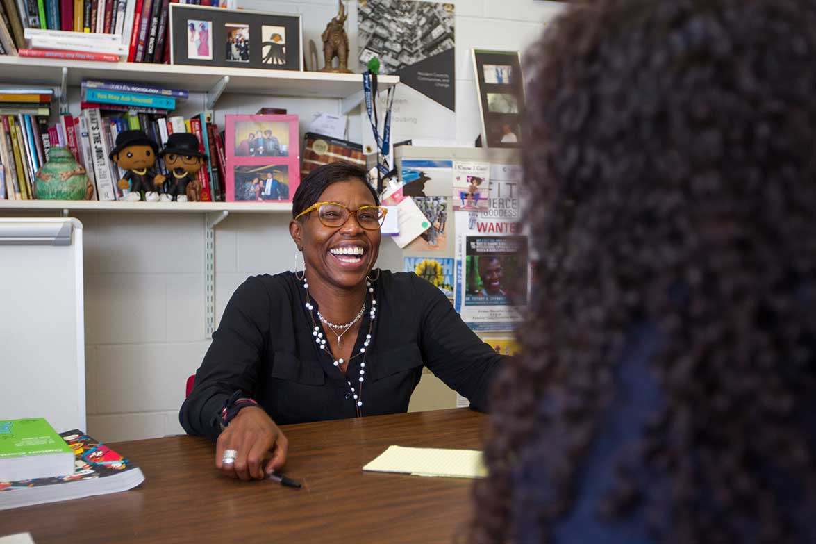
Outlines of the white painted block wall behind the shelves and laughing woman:
M 318 46 L 337 10 L 334 0 L 239 0 L 239 5 L 303 14 L 304 44 L 311 38 Z M 472 145 L 480 130 L 470 49 L 523 50 L 561 7 L 546 0 L 455 3 L 457 140 Z M 356 13 L 356 7 L 349 12 Z M 355 26 L 350 25 L 352 33 Z M 352 34 L 352 42 L 354 38 Z M 71 96 L 74 109 L 76 93 Z M 180 114 L 197 113 L 202 100 L 191 96 Z M 216 123 L 223 127 L 224 114 L 253 114 L 261 106 L 285 107 L 301 118 L 316 111 L 339 113 L 338 100 L 232 95 L 216 106 Z M 350 138 L 360 141 L 360 116 L 349 120 Z M 184 382 L 209 346 L 204 335 L 204 219 L 198 214 L 99 212 L 79 213 L 78 218 L 85 225 L 88 432 L 107 442 L 182 433 L 178 409 Z M 286 214 L 233 214 L 216 227 L 219 316 L 247 276 L 291 270 L 295 246 L 287 223 Z M 389 239 L 384 239 L 379 262 L 401 270 L 401 252 Z M 446 388 L 434 380 L 424 376 L 421 387 L 427 393 L 412 408 L 454 405 L 452 397 L 451 404 L 437 402 Z

